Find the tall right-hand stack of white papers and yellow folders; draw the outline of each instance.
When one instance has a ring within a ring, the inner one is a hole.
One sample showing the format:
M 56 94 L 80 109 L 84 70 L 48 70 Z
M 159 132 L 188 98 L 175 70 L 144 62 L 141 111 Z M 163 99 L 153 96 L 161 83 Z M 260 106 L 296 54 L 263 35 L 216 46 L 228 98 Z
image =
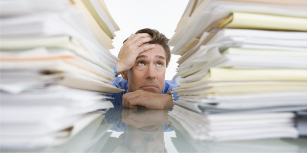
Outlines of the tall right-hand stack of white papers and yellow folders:
M 307 110 L 306 10 L 299 0 L 190 1 L 169 40 L 182 56 L 182 107 L 170 114 L 194 139 L 296 138 L 293 111 Z

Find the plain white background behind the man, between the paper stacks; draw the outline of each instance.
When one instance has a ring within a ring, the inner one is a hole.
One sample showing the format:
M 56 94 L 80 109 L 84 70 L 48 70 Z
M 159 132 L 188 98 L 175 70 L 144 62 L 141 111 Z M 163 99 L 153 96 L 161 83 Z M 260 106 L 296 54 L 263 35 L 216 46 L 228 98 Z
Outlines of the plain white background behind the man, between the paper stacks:
M 115 32 L 117 35 L 113 40 L 115 48 L 111 49 L 116 57 L 123 41 L 140 29 L 156 29 L 167 38 L 171 38 L 188 4 L 188 0 L 105 0 L 104 2 L 121 29 Z M 176 74 L 178 66 L 176 62 L 179 57 L 171 55 L 165 80 L 172 80 Z

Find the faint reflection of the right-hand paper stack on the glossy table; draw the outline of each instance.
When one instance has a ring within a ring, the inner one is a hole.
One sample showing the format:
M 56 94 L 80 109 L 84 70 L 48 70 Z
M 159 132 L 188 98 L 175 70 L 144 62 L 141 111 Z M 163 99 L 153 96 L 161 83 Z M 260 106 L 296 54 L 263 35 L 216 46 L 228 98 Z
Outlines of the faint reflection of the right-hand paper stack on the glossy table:
M 299 152 L 299 150 L 306 150 L 304 139 L 261 139 L 232 142 L 196 141 L 190 137 L 176 119 L 170 116 L 169 120 L 173 123 L 173 129 L 176 132 L 176 137 L 171 138 L 171 141 L 178 152 L 250 152 L 251 150 L 253 152 Z

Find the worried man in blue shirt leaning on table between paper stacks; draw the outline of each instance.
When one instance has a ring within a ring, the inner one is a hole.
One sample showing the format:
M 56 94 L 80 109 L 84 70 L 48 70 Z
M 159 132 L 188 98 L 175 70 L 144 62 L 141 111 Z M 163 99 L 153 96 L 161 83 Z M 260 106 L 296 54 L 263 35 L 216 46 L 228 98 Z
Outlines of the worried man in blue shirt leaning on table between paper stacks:
M 164 80 L 170 61 L 167 42 L 162 33 L 151 29 L 139 30 L 124 41 L 114 67 L 122 77 L 117 77 L 113 85 L 126 91 L 112 94 L 115 99 L 110 100 L 114 105 L 149 109 L 173 107 L 173 98 L 168 92 L 178 85 Z M 173 96 L 178 99 L 176 93 Z

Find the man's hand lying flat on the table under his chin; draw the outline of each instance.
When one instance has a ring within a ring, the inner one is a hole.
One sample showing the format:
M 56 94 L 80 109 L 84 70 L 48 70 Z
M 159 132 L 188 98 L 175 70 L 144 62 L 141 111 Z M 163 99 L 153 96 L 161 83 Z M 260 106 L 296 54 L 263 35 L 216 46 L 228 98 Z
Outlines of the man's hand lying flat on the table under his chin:
M 123 107 L 138 108 L 143 106 L 148 109 L 167 109 L 173 107 L 170 94 L 152 93 L 144 90 L 128 92 L 123 95 Z

